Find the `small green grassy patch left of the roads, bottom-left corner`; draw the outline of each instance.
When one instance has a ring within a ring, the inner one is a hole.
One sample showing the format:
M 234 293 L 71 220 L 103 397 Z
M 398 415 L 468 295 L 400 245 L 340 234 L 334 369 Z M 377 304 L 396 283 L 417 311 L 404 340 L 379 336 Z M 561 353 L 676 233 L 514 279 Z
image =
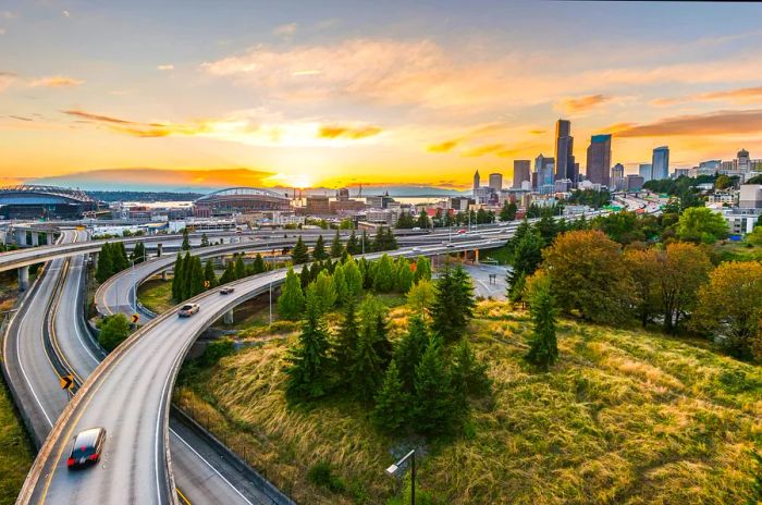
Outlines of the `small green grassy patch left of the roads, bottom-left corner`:
M 32 444 L 0 375 L 0 505 L 16 501 L 33 459 Z

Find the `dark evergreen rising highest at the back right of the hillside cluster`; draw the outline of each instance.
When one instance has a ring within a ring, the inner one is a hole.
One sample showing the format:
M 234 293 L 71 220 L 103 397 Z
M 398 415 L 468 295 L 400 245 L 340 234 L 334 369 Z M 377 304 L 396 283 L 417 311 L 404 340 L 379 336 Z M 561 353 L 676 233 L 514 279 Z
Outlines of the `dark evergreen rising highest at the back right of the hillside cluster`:
M 434 332 L 446 341 L 460 338 L 475 305 L 474 286 L 463 267 L 445 267 L 437 280 L 437 299 L 431 307 Z

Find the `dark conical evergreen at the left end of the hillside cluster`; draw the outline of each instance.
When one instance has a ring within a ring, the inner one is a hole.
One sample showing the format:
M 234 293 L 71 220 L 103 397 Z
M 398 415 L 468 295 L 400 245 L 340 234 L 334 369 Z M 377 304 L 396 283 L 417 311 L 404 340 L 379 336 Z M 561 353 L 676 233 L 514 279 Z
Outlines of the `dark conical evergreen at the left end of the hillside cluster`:
M 294 293 L 296 293 L 295 290 L 300 293 L 302 287 L 293 269 L 290 269 L 290 273 L 293 279 Z M 299 342 L 294 349 L 288 352 L 286 357 L 287 365 L 284 371 L 287 375 L 286 398 L 290 402 L 317 398 L 327 393 L 329 389 L 328 372 L 331 368 L 328 350 L 329 333 L 320 311 L 320 301 L 310 290 L 307 295 Z

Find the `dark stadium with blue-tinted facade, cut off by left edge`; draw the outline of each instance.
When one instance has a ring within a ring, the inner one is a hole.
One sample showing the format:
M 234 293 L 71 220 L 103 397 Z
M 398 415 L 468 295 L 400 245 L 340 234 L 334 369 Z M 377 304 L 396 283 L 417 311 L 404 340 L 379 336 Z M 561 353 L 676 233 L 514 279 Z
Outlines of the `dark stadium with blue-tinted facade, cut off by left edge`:
M 3 219 L 81 219 L 96 210 L 98 202 L 78 189 L 36 185 L 0 188 Z

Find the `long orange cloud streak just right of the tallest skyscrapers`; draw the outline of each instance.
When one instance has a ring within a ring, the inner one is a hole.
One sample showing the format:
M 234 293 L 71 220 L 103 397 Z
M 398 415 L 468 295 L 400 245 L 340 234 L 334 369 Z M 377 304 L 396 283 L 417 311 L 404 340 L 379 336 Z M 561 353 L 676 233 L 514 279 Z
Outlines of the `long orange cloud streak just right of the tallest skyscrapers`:
M 664 118 L 649 124 L 610 126 L 619 137 L 672 137 L 695 135 L 733 135 L 762 132 L 762 109 L 716 111 L 708 114 Z

